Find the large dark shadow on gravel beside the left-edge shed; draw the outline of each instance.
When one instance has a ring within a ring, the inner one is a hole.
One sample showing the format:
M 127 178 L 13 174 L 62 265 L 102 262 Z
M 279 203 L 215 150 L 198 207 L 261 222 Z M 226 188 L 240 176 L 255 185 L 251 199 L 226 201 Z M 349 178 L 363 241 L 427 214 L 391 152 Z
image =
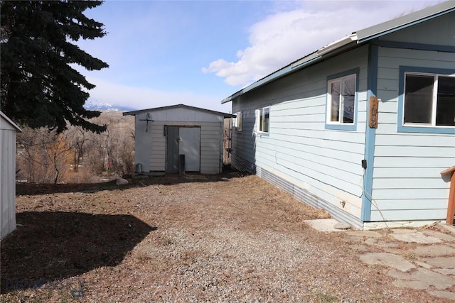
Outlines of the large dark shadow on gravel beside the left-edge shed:
M 1 293 L 115 266 L 156 227 L 131 215 L 28 211 L 1 241 Z

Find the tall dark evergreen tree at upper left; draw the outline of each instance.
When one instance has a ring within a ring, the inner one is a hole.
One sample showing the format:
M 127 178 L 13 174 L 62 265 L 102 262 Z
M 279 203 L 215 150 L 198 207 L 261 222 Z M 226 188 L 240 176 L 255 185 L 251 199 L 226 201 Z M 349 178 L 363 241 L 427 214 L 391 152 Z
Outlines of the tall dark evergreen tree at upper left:
M 23 126 L 60 133 L 82 126 L 100 133 L 100 116 L 83 105 L 95 85 L 71 64 L 100 70 L 107 63 L 81 50 L 75 41 L 106 35 L 103 24 L 84 15 L 102 1 L 0 1 L 1 111 Z

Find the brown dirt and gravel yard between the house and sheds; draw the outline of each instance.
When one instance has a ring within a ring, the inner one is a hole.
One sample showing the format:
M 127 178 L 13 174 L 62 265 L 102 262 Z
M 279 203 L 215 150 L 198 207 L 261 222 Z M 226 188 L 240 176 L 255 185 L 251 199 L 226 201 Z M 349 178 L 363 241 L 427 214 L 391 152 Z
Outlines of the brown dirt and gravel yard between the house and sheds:
M 255 176 L 18 184 L 16 192 L 0 302 L 436 302 L 393 287 L 343 233 L 304 223 L 324 211 Z

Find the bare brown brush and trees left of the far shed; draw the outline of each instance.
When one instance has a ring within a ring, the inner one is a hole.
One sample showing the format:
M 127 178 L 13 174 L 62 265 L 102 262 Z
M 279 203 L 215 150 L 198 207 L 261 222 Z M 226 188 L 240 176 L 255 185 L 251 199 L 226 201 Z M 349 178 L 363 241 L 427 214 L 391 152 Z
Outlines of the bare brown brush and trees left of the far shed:
M 23 128 L 18 134 L 18 178 L 28 182 L 93 182 L 134 170 L 134 120 L 120 113 L 102 113 L 92 123 L 104 133 L 68 126 L 63 133 Z

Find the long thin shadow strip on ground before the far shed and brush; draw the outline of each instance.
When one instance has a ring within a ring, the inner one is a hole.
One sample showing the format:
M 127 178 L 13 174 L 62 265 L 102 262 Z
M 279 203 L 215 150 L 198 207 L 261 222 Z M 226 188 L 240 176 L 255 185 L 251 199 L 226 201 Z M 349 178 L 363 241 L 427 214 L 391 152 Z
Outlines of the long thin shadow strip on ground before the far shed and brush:
M 235 177 L 248 175 L 245 172 L 229 171 L 218 175 L 201 175 L 201 174 L 168 174 L 165 176 L 146 176 L 139 175 L 133 179 L 128 179 L 129 184 L 116 185 L 116 180 L 102 183 L 69 183 L 69 184 L 34 184 L 18 183 L 16 184 L 16 195 L 37 195 L 37 194 L 57 194 L 65 192 L 100 192 L 102 190 L 123 190 L 132 187 L 146 187 L 149 185 L 163 184 L 171 185 L 188 182 L 223 182 Z

